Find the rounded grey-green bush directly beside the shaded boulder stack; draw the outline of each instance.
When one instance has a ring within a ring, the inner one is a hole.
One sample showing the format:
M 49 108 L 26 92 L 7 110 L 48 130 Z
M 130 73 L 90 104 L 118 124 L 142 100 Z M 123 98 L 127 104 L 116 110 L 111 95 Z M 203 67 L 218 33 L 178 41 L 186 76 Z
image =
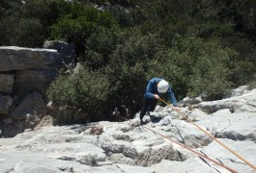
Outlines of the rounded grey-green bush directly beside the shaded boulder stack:
M 100 120 L 106 110 L 109 87 L 104 74 L 80 66 L 69 76 L 60 73 L 47 90 L 47 97 L 56 105 L 82 109 L 92 120 Z

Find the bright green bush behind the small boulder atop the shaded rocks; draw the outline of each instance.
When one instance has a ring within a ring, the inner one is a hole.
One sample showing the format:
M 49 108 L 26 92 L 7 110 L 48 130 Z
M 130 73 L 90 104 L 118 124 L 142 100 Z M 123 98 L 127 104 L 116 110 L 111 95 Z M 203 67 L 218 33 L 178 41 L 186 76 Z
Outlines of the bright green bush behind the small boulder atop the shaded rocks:
M 71 12 L 60 18 L 51 28 L 51 38 L 75 44 L 76 54 L 83 56 L 87 41 L 96 31 L 116 28 L 117 24 L 108 12 L 73 5 Z

